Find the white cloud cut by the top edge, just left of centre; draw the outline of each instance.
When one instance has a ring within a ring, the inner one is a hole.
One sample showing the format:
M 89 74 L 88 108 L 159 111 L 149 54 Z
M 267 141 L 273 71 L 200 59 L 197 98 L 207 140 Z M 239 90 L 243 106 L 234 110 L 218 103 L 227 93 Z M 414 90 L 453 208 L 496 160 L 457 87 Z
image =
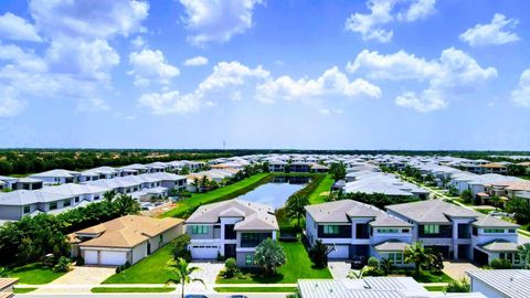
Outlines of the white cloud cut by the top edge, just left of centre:
M 186 8 L 184 22 L 193 32 L 192 44 L 223 43 L 253 24 L 254 7 L 262 0 L 180 0 Z

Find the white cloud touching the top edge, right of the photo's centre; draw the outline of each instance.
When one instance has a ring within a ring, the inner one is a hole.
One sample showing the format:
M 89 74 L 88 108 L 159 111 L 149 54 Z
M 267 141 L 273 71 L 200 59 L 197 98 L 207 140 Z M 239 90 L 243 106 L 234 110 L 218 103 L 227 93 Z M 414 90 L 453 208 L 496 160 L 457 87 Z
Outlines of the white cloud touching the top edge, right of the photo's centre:
M 405 4 L 406 9 L 396 9 L 398 4 Z M 390 42 L 393 31 L 384 25 L 392 22 L 414 22 L 433 14 L 436 0 L 368 0 L 370 13 L 352 13 L 344 28 L 361 34 L 365 41 L 375 40 L 382 43 Z

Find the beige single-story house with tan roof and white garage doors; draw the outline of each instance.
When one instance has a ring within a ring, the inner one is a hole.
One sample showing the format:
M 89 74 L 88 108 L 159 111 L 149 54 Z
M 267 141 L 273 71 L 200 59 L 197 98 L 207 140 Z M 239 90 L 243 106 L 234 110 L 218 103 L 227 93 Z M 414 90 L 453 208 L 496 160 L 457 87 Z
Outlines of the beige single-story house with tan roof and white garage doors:
M 127 215 L 71 235 L 72 256 L 85 265 L 135 264 L 183 233 L 183 220 Z

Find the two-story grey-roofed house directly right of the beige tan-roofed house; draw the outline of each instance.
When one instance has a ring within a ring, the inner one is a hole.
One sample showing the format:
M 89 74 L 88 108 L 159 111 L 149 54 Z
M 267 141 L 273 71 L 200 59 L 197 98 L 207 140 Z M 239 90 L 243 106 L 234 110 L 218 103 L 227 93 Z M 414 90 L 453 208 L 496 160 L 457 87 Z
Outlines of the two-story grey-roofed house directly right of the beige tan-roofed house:
M 239 266 L 254 266 L 256 246 L 278 230 L 272 206 L 237 199 L 200 206 L 186 221 L 192 258 L 234 257 Z

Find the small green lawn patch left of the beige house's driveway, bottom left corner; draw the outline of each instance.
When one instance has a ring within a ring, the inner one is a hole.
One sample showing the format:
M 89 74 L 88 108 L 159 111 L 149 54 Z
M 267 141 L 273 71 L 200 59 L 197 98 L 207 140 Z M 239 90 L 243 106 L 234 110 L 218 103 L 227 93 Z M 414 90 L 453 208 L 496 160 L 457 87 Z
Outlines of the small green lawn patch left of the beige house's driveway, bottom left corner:
M 63 276 L 65 273 L 54 273 L 41 263 L 28 264 L 8 270 L 9 277 L 19 278 L 22 285 L 43 285 Z

